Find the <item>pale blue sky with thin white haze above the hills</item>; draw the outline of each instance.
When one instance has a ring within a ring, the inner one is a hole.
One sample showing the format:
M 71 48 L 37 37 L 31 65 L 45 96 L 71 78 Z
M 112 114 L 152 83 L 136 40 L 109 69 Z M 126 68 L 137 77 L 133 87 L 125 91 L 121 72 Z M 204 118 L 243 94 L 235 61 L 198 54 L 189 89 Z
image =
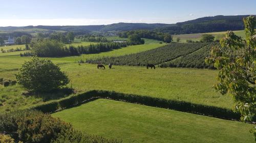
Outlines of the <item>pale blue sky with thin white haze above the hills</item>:
M 0 26 L 176 23 L 256 14 L 256 0 L 0 0 Z

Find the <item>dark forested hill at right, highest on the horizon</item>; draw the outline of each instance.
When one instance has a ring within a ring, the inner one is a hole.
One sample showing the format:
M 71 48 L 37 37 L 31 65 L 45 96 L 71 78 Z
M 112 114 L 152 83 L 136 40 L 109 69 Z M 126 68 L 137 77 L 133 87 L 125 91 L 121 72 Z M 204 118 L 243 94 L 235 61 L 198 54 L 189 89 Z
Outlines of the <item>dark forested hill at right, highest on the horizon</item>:
M 243 18 L 249 15 L 237 16 L 211 16 L 202 17 L 195 20 L 178 22 L 174 25 L 159 27 L 156 31 L 169 34 L 194 34 L 210 33 L 222 31 L 239 31 L 244 29 Z

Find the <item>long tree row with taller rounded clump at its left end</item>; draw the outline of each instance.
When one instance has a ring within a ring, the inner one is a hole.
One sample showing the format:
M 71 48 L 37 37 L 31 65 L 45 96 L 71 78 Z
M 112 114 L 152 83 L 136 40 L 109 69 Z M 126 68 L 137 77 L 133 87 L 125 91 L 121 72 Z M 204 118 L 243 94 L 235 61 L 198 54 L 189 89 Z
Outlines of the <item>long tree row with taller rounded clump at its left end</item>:
M 69 47 L 63 46 L 63 44 L 56 40 L 45 39 L 38 41 L 31 45 L 32 51 L 20 56 L 26 55 L 37 55 L 39 57 L 60 57 L 60 56 L 72 56 L 80 54 L 90 54 L 110 51 L 112 49 L 119 49 L 121 47 L 126 47 L 126 43 L 98 43 L 91 44 L 90 46 L 78 46 L 74 47 L 70 45 Z

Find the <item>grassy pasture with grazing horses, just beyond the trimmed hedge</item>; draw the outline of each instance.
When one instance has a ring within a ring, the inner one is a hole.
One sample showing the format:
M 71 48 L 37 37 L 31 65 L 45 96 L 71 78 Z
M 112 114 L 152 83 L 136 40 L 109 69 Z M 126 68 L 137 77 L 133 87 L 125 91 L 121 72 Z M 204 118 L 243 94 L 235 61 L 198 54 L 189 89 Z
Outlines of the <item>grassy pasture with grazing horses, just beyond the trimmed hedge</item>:
M 1 65 L 3 62 L 1 59 Z M 13 61 L 12 61 L 13 60 Z M 23 62 L 28 59 L 8 59 L 6 67 L 0 67 L 0 77 L 14 79 L 14 73 Z M 82 64 L 52 59 L 62 71 L 66 71 L 71 82 L 68 87 L 75 89 L 77 93 L 90 90 L 108 90 L 121 93 L 138 94 L 144 96 L 160 97 L 232 108 L 233 102 L 228 95 L 223 96 L 212 88 L 217 80 L 218 71 L 207 69 L 180 69 L 180 68 L 157 68 L 146 69 L 145 67 L 114 66 L 114 69 L 99 70 L 96 65 Z M 18 62 L 19 61 L 19 62 Z M 14 66 L 12 63 L 16 63 Z M 24 108 L 35 103 L 62 98 L 63 96 L 51 95 L 44 99 L 41 95 L 23 95 L 24 89 L 19 85 L 4 88 L 0 86 L 0 99 L 4 106 L 0 110 L 14 107 Z M 8 98 L 6 96 L 8 95 Z M 35 98 L 38 97 L 38 98 Z M 34 101 L 36 100 L 36 101 Z M 25 102 L 26 101 L 26 102 Z

